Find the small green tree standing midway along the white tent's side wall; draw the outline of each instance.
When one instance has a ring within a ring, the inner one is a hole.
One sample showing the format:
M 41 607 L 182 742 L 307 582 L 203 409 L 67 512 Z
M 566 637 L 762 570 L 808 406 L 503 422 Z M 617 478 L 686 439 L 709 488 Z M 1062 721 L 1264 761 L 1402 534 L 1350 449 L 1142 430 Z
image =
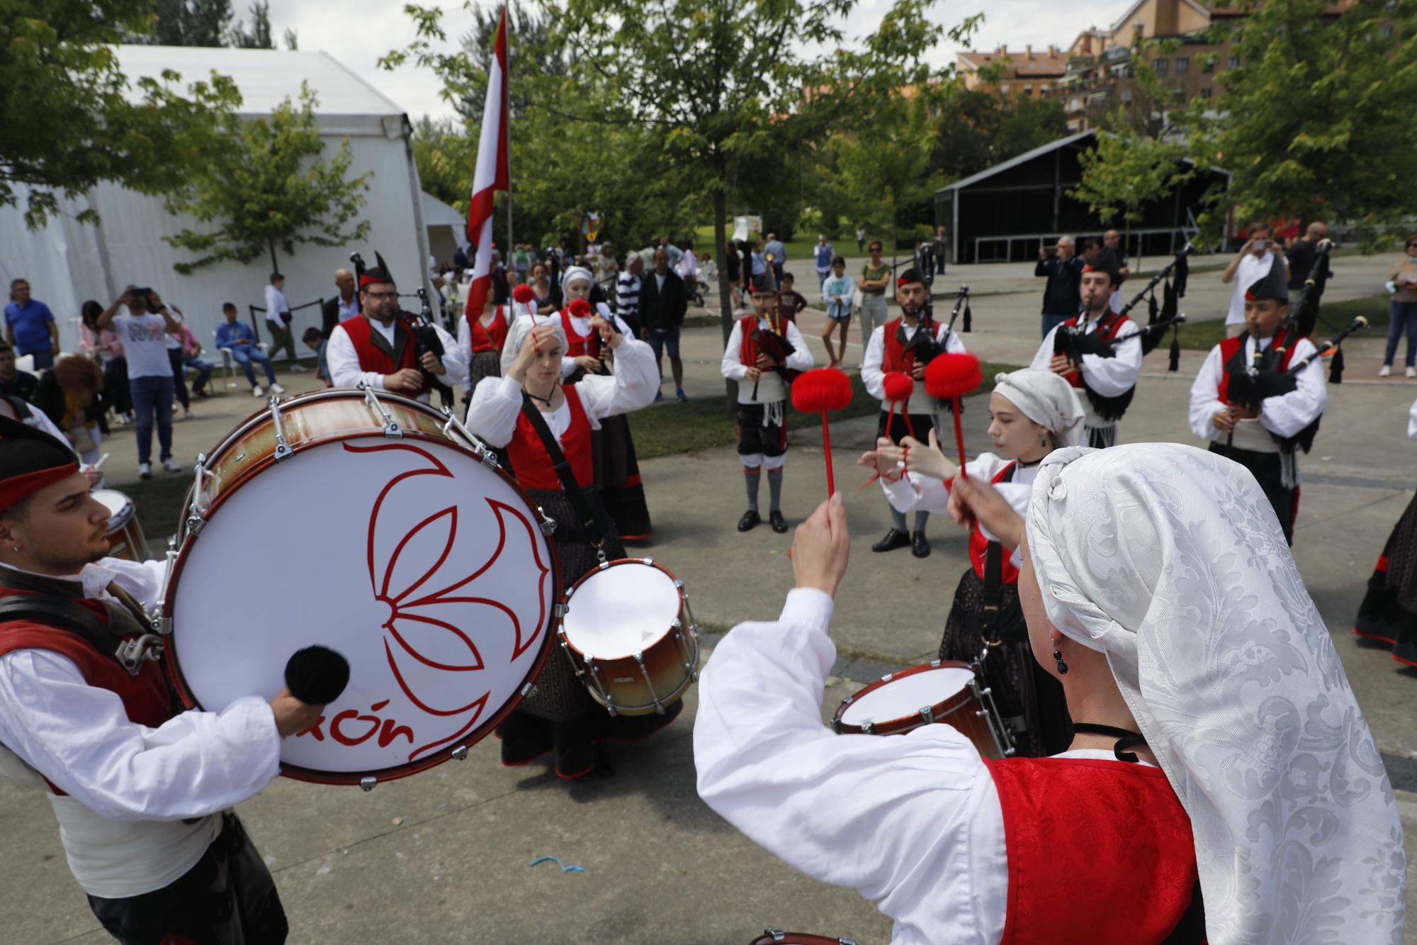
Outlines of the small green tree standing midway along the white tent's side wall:
M 315 94 L 302 87 L 299 105 L 288 98 L 269 119 L 230 118 L 227 143 L 193 183 L 169 200 L 171 213 L 188 213 L 201 230 L 183 230 L 167 243 L 201 254 L 173 268 L 187 275 L 234 260 L 251 262 L 276 247 L 295 254 L 298 243 L 339 247 L 368 236 L 368 221 L 350 227 L 364 204 L 368 177 L 349 179 L 350 146 L 323 159 L 315 121 Z

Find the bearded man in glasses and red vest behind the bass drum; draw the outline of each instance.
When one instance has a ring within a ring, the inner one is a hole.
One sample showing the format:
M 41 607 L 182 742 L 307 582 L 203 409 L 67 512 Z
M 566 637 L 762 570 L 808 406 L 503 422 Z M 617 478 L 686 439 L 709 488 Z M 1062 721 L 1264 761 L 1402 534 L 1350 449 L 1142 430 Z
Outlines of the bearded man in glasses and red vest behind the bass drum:
M 377 257 L 377 254 L 376 254 Z M 428 400 L 424 372 L 436 375 L 448 386 L 466 383 L 470 350 L 442 328 L 434 325 L 444 356 L 431 350 L 418 353 L 418 338 L 401 318 L 398 288 L 384 260 L 359 274 L 357 315 L 346 318 L 330 332 L 324 359 L 330 365 L 330 382 L 336 387 L 374 387 Z

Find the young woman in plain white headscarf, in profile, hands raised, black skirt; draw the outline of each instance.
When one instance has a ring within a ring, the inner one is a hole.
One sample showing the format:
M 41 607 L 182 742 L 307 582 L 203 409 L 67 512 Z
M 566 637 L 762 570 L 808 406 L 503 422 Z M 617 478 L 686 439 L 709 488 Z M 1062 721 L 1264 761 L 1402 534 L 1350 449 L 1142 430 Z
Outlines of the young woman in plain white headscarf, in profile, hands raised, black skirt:
M 995 375 L 989 437 L 996 453 L 971 460 L 965 465 L 969 478 L 992 482 L 1022 515 L 1043 457 L 1081 441 L 1083 416 L 1077 392 L 1053 372 Z M 883 437 L 860 464 L 876 467 L 891 508 L 901 514 L 945 511 L 959 471 L 939 450 L 934 430 L 928 446 L 911 437 L 894 446 Z M 969 528 L 969 563 L 945 620 L 939 658 L 973 663 L 988 653 L 985 682 L 993 690 L 1019 753 L 1036 758 L 1060 752 L 1071 738 L 1067 704 L 1057 680 L 1039 668 L 1029 650 L 1019 607 L 1019 549 L 976 522 Z

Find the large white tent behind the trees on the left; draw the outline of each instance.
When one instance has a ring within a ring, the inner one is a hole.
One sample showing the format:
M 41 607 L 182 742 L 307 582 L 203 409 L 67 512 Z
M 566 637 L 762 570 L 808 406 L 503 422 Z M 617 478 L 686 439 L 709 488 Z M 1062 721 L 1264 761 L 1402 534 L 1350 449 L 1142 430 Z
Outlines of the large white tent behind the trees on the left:
M 298 99 L 300 84 L 316 95 L 316 116 L 326 153 L 349 139 L 350 175 L 371 173 L 370 189 L 359 219 L 371 223 L 361 245 L 324 248 L 296 245 L 293 257 L 281 255 L 285 294 L 292 306 L 329 298 L 334 292 L 334 270 L 349 267 L 349 254 L 360 251 L 373 264 L 378 250 L 404 291 L 427 282 L 428 230 L 424 226 L 424 194 L 418 184 L 408 138 L 412 128 L 394 102 L 324 52 L 283 50 L 228 50 L 162 45 L 122 45 L 118 61 L 130 87 L 140 77 L 162 81 L 164 70 L 181 75 L 180 88 L 208 78 L 213 71 L 231 77 L 241 91 L 242 116 L 259 118 L 286 98 Z M 242 319 L 249 306 L 264 305 L 271 262 L 261 258 L 249 265 L 220 262 L 193 275 L 179 275 L 173 264 L 193 258 L 186 250 L 163 243 L 162 237 L 196 227 L 190 217 L 166 211 L 162 197 L 147 197 L 115 184 L 99 184 L 77 200 L 62 200 L 61 213 L 40 231 L 26 228 L 23 210 L 0 207 L 0 277 L 30 281 L 34 297 L 48 304 L 60 322 L 65 350 L 78 350 L 78 315 L 85 299 L 105 306 L 125 285 L 147 285 L 183 309 L 193 333 L 211 349 L 213 332 L 221 321 L 221 304 L 234 302 Z M 94 209 L 102 223 L 81 224 L 75 216 Z M 415 309 L 417 311 L 417 309 Z M 259 319 L 258 319 L 259 321 Z M 319 325 L 317 306 L 295 314 L 295 336 Z M 258 331 L 264 333 L 265 325 Z M 303 353 L 303 352 L 302 352 Z

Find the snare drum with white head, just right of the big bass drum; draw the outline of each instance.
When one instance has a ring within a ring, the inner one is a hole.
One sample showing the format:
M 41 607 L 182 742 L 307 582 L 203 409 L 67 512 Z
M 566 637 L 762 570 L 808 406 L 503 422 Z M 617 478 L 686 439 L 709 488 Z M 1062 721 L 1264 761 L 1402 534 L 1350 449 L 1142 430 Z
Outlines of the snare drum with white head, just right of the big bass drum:
M 621 558 L 565 592 L 561 650 L 611 715 L 665 714 L 699 678 L 684 582 L 652 558 Z

